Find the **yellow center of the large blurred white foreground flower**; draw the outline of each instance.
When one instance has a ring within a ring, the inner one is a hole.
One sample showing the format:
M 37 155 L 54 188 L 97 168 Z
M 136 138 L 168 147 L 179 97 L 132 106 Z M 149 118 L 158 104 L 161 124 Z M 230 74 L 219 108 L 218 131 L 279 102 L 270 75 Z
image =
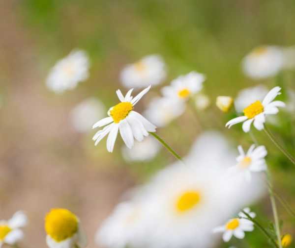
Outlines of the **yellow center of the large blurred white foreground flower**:
M 200 202 L 200 193 L 198 191 L 184 192 L 176 202 L 176 209 L 178 213 L 184 213 L 191 210 Z

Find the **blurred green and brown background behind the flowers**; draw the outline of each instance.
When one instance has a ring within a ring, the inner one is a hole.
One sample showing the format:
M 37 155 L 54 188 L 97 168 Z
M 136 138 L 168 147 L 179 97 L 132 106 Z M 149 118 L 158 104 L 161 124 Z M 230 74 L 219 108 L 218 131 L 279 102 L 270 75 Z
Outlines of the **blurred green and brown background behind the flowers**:
M 215 98 L 235 97 L 238 90 L 258 83 L 268 88 L 275 84 L 277 78 L 257 82 L 245 77 L 241 59 L 259 45 L 295 45 L 294 13 L 294 0 L 2 0 L 0 219 L 19 209 L 27 212 L 30 224 L 21 247 L 46 247 L 43 219 L 52 207 L 76 213 L 89 248 L 96 247 L 94 233 L 122 193 L 174 161 L 162 149 L 151 162 L 127 164 L 120 152 L 121 138 L 113 154 L 107 152 L 105 140 L 94 147 L 95 130 L 79 134 L 72 127 L 69 115 L 76 104 L 97 97 L 107 109 L 115 105 L 115 91 L 127 91 L 118 79 L 124 65 L 158 53 L 168 66 L 166 84 L 196 70 L 207 75 L 204 88 L 212 100 L 208 113 L 196 118 L 187 110 L 159 128 L 159 135 L 181 155 L 210 128 L 223 131 L 234 146 L 247 146 L 250 137 L 240 135 L 240 126 L 223 127 L 229 116 L 215 107 Z M 48 91 L 50 68 L 75 48 L 89 54 L 89 79 L 62 95 Z M 281 76 L 295 88 L 294 72 Z M 161 86 L 153 87 L 137 110 L 159 95 Z M 294 154 L 289 129 L 280 130 Z M 264 134 L 259 135 L 263 142 Z M 295 207 L 295 169 L 270 142 L 267 149 L 275 188 Z M 268 199 L 256 211 L 271 218 Z M 295 234 L 294 219 L 281 205 L 279 212 L 286 222 L 284 231 Z M 253 247 L 262 247 L 260 236 L 257 231 L 246 237 Z

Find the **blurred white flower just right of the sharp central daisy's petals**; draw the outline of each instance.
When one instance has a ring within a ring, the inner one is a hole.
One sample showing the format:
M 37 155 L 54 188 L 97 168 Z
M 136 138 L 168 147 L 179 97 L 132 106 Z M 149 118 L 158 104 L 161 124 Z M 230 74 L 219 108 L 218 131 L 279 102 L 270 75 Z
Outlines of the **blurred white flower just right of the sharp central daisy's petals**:
M 185 104 L 182 101 L 172 98 L 154 98 L 149 102 L 145 116 L 155 125 L 163 127 L 182 115 L 184 110 Z

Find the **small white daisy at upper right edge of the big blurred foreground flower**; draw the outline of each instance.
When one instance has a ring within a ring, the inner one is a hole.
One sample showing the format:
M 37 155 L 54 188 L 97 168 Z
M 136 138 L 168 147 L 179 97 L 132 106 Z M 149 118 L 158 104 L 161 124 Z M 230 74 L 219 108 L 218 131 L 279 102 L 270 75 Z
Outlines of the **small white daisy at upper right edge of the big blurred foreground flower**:
M 244 173 L 245 179 L 249 182 L 252 172 L 266 171 L 265 157 L 267 151 L 265 146 L 255 148 L 253 144 L 247 153 L 244 152 L 241 146 L 238 146 L 237 149 L 239 151 L 239 156 L 236 158 L 236 166 L 230 168 L 232 173 Z

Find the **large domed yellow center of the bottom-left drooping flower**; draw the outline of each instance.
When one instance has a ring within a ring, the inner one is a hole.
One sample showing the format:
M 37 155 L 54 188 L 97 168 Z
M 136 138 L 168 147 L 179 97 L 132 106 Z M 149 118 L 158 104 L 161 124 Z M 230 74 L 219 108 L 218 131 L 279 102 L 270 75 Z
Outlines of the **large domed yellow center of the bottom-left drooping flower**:
M 54 208 L 45 217 L 45 231 L 55 241 L 63 241 L 78 231 L 78 219 L 67 209 Z

